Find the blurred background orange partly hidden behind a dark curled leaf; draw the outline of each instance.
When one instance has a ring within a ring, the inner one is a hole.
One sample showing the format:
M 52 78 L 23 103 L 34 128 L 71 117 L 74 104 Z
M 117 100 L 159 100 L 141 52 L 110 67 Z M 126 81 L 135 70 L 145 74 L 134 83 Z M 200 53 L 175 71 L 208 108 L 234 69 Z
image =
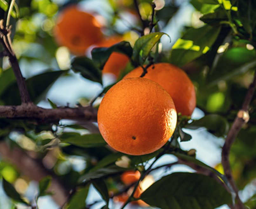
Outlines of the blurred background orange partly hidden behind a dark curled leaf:
M 121 37 L 112 36 L 111 38 L 99 42 L 97 47 L 111 47 L 121 41 L 123 41 Z M 104 65 L 102 73 L 112 73 L 118 78 L 120 71 L 125 68 L 128 62 L 129 58 L 125 54 L 113 52 Z

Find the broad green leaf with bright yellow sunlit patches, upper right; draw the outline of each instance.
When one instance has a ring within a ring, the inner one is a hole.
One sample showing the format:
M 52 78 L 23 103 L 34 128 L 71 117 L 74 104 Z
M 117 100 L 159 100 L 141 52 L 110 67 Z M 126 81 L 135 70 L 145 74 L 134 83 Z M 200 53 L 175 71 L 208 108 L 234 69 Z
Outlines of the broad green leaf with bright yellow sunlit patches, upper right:
M 172 47 L 170 62 L 183 66 L 205 54 L 217 39 L 221 26 L 205 25 L 189 29 Z

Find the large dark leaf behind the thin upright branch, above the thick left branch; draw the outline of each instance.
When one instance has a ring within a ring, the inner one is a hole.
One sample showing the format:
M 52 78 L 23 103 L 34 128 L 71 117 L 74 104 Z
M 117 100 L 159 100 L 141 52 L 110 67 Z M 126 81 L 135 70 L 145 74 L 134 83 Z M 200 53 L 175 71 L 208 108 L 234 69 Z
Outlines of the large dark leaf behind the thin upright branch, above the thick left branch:
M 67 71 L 51 71 L 27 79 L 25 82 L 31 100 L 34 103 L 38 103 L 44 98 L 53 83 L 65 72 Z M 2 95 L 0 95 L 0 99 L 6 105 L 20 105 L 21 100 L 17 83 L 12 84 L 8 89 L 5 89 Z

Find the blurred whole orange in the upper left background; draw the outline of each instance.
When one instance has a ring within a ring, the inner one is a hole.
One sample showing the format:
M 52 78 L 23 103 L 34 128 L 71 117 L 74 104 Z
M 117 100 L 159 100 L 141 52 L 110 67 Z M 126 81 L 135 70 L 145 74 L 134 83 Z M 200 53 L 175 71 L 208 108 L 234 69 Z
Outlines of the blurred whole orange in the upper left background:
M 101 41 L 103 34 L 94 16 L 71 5 L 60 11 L 54 37 L 59 45 L 68 47 L 73 54 L 84 55 L 89 46 Z

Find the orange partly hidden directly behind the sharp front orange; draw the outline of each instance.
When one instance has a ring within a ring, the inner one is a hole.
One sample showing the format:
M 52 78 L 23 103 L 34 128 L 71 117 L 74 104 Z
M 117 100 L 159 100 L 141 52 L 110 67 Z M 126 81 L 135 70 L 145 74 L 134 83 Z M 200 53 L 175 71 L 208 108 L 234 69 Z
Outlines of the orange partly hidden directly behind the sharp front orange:
M 124 79 L 139 77 L 142 72 L 142 67 L 137 67 Z M 171 95 L 177 113 L 192 115 L 196 107 L 196 93 L 192 81 L 182 69 L 169 63 L 157 63 L 147 69 L 144 78 L 157 82 Z

